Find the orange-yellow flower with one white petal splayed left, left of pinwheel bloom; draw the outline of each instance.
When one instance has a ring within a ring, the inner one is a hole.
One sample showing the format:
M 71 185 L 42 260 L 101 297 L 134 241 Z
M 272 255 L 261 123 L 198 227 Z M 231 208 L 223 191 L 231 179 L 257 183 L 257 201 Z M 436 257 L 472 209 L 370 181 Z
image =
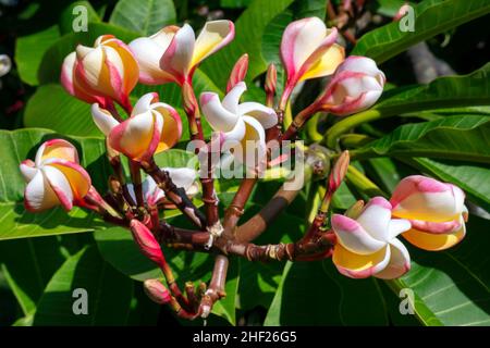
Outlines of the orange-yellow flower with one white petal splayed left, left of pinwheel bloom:
M 91 115 L 110 147 L 134 161 L 146 161 L 171 148 L 182 135 L 179 113 L 152 92 L 139 98 L 131 117 L 121 123 L 97 103 L 91 105 Z

